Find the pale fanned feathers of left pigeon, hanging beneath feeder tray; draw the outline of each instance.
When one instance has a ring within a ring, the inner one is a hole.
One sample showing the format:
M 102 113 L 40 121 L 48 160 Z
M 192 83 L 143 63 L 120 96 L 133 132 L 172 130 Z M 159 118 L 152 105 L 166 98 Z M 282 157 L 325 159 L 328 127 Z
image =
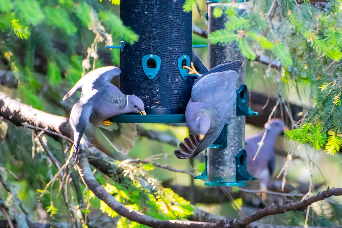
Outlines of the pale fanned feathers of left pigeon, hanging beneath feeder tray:
M 117 124 L 117 127 L 111 128 L 111 125 Z M 112 123 L 108 127 L 98 126 L 100 132 L 108 141 L 108 143 L 123 155 L 133 149 L 136 138 L 135 123 Z

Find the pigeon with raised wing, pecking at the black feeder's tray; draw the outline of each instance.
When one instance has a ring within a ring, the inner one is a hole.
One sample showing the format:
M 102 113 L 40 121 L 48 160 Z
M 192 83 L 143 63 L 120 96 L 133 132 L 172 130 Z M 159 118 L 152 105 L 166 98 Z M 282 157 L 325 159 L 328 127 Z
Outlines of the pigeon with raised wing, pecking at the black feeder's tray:
M 118 152 L 127 155 L 136 138 L 135 123 L 112 123 L 109 117 L 124 113 L 146 115 L 144 103 L 135 95 L 124 95 L 110 80 L 120 75 L 117 67 L 101 67 L 82 77 L 64 96 L 63 100 L 81 91 L 81 98 L 70 112 L 70 124 L 74 130 L 74 144 L 71 152 L 76 161 L 82 135 L 90 123 L 98 126 L 102 135 Z

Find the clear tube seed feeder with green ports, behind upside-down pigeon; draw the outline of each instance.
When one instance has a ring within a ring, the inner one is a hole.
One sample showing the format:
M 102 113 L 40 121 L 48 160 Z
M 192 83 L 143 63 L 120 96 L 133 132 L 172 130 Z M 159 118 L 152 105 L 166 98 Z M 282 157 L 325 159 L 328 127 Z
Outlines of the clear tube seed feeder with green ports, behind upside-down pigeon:
M 215 18 L 212 16 L 215 7 L 225 8 L 228 3 L 217 3 L 218 1 L 207 1 L 208 3 L 208 33 L 225 27 L 226 16 Z M 234 3 L 244 12 L 244 3 Z M 209 41 L 208 41 L 209 42 Z M 229 60 L 246 59 L 237 50 L 235 44 L 221 45 L 208 44 L 209 65 L 215 67 Z M 240 68 L 236 82 L 237 96 L 234 107 L 229 111 L 227 124 L 224 126 L 220 136 L 206 150 L 205 170 L 195 178 L 206 180 L 205 185 L 209 186 L 243 186 L 246 180 L 255 180 L 247 171 L 247 153 L 245 148 L 245 116 L 254 116 L 247 105 L 248 90 L 245 83 L 245 65 Z

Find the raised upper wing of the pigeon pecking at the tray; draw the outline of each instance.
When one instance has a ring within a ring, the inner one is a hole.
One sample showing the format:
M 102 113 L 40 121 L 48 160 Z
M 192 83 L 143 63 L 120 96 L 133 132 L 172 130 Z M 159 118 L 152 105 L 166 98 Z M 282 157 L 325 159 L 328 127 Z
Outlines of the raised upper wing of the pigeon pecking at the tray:
M 120 75 L 121 70 L 117 67 L 101 67 L 90 71 L 82 77 L 75 86 L 63 97 L 63 100 L 73 95 L 76 91 L 81 91 L 83 94 L 83 86 L 86 90 L 90 90 L 94 83 L 102 84 L 109 82 L 113 77 Z M 86 91 L 87 92 L 87 91 Z

